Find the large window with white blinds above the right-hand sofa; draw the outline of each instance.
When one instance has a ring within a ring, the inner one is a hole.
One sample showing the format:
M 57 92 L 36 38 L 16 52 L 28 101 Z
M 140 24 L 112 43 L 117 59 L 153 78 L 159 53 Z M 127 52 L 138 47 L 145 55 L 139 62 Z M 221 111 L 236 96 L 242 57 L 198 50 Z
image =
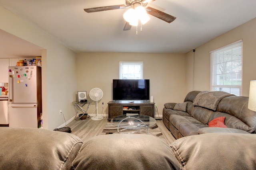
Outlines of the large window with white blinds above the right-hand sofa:
M 211 54 L 211 91 L 242 96 L 242 40 L 222 47 Z

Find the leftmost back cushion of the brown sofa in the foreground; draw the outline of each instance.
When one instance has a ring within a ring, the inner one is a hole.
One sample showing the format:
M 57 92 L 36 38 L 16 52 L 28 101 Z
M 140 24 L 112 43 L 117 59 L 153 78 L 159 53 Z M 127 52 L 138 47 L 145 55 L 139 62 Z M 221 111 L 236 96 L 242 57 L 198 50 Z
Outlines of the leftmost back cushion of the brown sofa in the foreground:
M 0 169 L 70 169 L 82 147 L 79 137 L 60 131 L 0 127 Z

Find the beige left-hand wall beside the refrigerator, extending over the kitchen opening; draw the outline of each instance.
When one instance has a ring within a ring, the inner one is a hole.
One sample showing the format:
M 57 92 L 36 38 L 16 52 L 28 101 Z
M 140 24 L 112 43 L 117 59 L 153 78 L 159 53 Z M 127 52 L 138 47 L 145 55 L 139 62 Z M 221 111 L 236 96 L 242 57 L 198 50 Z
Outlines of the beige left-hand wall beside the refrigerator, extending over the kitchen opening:
M 55 129 L 74 116 L 76 53 L 32 23 L 0 7 L 0 29 L 29 41 L 42 50 L 42 104 L 44 129 Z

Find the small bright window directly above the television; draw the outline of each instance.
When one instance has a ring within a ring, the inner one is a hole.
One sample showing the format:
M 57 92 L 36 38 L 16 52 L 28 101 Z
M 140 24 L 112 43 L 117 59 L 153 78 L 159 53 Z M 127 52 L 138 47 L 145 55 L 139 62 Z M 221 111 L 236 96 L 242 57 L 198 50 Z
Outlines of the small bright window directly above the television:
M 143 62 L 119 62 L 119 79 L 143 79 Z

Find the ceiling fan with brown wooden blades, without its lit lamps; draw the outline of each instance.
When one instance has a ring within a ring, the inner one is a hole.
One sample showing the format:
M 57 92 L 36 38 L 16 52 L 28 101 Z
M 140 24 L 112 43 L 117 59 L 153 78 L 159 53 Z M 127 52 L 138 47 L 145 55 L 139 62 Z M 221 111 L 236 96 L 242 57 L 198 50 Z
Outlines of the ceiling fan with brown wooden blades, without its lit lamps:
M 176 19 L 176 17 L 171 16 L 169 14 L 166 14 L 160 10 L 157 10 L 152 7 L 146 7 L 148 3 L 153 2 L 155 0 L 125 0 L 126 5 L 112 5 L 112 6 L 102 6 L 102 7 L 96 7 L 96 8 L 86 8 L 84 9 L 85 12 L 91 13 L 91 12 L 100 12 L 100 11 L 106 11 L 106 10 L 117 10 L 117 9 L 124 9 L 124 8 L 132 8 L 135 9 L 137 7 L 143 7 L 146 10 L 146 13 L 159 18 L 163 21 L 166 21 L 168 23 L 171 23 Z M 124 31 L 130 30 L 132 27 L 131 23 L 126 21 L 126 24 L 124 25 Z

